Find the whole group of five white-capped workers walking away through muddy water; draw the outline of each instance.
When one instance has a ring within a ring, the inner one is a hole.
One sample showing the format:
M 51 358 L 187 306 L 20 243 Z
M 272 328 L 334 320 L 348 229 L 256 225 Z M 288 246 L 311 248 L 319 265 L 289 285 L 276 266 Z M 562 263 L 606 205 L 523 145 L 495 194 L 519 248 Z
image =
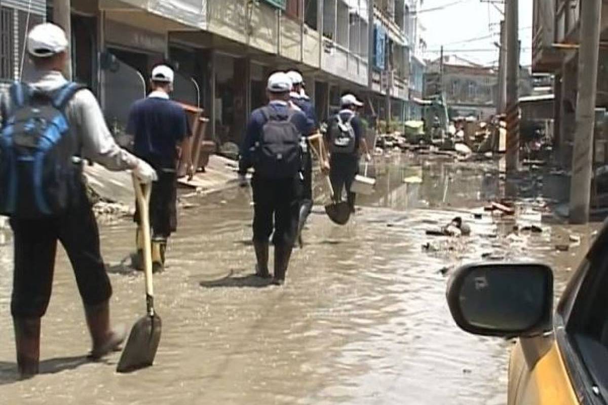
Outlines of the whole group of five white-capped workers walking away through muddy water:
M 9 217 L 14 235 L 11 314 L 22 378 L 38 373 L 41 318 L 50 300 L 57 242 L 75 273 L 92 340 L 90 357 L 102 358 L 119 349 L 125 339 L 125 328 L 111 327 L 112 288 L 86 193 L 83 160 L 113 171 L 130 170 L 140 183 L 152 183 L 154 271 L 164 269 L 167 240 L 177 229 L 179 159 L 184 158 L 193 171 L 188 150 L 192 131 L 183 108 L 170 100 L 174 79 L 170 67 L 153 69 L 152 92 L 131 108 L 126 132 L 134 137 L 132 154 L 117 145 L 94 95 L 64 78 L 69 42 L 60 27 L 49 23 L 33 27 L 27 50 L 35 68 L 33 77 L 0 94 L 0 214 Z M 340 199 L 346 188 L 353 211 L 350 186 L 360 152 L 370 159 L 356 114 L 362 103 L 350 94 L 342 97 L 342 108 L 322 137 L 304 85 L 297 72 L 273 73 L 268 79 L 269 103 L 252 113 L 241 147 L 241 185 L 247 185 L 247 171 L 254 168 L 256 274 L 272 278 L 277 285 L 285 282 L 292 248 L 313 205 L 311 150 L 316 151 L 323 172 L 329 172 L 334 198 Z M 139 224 L 139 213 L 134 219 Z M 143 262 L 141 236 L 138 225 L 135 267 Z

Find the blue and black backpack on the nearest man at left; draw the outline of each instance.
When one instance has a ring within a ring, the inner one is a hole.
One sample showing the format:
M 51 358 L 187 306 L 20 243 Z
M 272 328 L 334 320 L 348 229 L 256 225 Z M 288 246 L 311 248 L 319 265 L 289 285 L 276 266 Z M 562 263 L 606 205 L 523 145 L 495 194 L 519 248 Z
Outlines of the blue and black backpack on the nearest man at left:
M 0 214 L 40 219 L 69 208 L 81 166 L 65 109 L 80 89 L 76 83 L 52 92 L 25 83 L 10 88 L 12 106 L 0 131 Z

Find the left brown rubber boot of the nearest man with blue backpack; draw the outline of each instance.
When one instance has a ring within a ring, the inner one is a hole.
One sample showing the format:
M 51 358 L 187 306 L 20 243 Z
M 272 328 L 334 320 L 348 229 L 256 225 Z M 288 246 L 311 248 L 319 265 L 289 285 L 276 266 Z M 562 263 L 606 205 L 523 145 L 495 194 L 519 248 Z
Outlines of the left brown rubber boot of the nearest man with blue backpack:
M 19 378 L 38 374 L 40 364 L 40 318 L 13 318 Z

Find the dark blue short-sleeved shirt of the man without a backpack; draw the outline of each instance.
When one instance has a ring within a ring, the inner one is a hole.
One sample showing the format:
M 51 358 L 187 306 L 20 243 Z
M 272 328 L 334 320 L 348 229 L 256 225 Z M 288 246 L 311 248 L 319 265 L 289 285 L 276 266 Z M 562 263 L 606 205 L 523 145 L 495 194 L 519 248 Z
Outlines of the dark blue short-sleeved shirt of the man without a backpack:
M 178 103 L 168 98 L 148 97 L 131 107 L 126 132 L 135 137 L 137 157 L 171 167 L 178 160 L 178 146 L 190 135 L 190 124 Z

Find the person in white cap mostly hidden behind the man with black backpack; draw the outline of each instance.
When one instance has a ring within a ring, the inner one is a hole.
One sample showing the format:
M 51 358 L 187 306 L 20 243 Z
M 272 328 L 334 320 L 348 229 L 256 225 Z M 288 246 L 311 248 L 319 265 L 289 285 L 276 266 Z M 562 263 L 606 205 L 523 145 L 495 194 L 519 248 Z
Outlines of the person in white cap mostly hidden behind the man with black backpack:
M 310 98 L 306 96 L 304 91 L 304 80 L 302 75 L 295 70 L 291 70 L 287 72 L 289 78 L 291 79 L 292 89 L 289 97 L 291 98 L 291 102 L 295 104 L 308 118 L 310 125 L 310 132 L 308 134 L 304 134 L 302 137 L 302 202 L 300 203 L 300 213 L 299 213 L 299 222 L 298 222 L 298 241 L 300 244 L 300 248 L 303 247 L 302 240 L 302 230 L 304 225 L 306 224 L 306 220 L 311 213 L 311 209 L 313 209 L 313 155 L 312 155 L 312 146 L 309 138 L 312 135 L 317 133 L 317 129 L 319 125 L 317 123 L 317 116 L 314 111 L 313 103 L 311 103 Z M 322 158 L 322 157 L 321 157 Z M 322 163 L 323 164 L 323 163 Z

